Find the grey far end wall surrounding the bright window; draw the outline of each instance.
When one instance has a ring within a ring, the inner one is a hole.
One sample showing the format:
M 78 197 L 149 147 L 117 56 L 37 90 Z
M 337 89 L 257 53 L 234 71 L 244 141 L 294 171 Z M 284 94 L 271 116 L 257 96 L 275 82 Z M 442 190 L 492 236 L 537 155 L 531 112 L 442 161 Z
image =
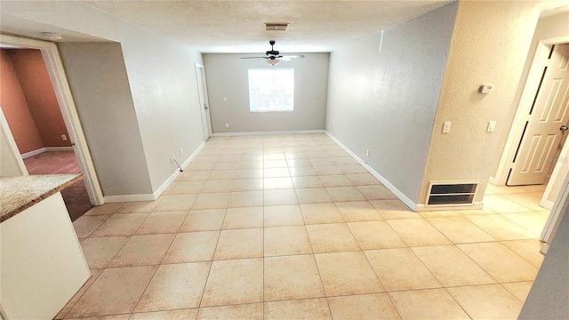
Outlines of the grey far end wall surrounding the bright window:
M 271 67 L 264 60 L 240 59 L 251 54 L 204 54 L 212 132 L 324 130 L 330 55 L 304 55 L 276 66 L 294 68 L 294 111 L 249 112 L 247 69 Z

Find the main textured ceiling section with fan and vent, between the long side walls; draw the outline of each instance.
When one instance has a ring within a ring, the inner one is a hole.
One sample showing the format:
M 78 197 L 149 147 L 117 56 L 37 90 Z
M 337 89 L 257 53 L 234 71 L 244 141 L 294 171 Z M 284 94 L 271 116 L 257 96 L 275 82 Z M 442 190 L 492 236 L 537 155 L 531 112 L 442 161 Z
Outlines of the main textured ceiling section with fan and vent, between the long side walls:
M 86 1 L 202 52 L 327 52 L 339 41 L 411 20 L 449 1 Z M 265 31 L 266 22 L 288 22 Z

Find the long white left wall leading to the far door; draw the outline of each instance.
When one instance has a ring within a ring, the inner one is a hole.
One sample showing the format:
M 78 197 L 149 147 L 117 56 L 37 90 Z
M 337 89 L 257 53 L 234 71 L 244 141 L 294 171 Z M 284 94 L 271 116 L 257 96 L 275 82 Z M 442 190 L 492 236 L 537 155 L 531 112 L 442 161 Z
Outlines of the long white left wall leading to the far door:
M 196 63 L 202 64 L 202 55 L 142 28 L 124 24 L 119 31 L 148 173 L 156 192 L 178 169 L 170 157 L 183 164 L 204 142 L 196 78 Z

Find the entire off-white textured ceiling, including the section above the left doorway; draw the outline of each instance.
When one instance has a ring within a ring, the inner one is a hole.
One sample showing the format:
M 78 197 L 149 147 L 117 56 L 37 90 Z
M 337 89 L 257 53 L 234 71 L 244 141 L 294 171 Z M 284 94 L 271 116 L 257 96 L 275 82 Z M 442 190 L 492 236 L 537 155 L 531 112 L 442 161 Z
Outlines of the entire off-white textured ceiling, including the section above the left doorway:
M 116 40 L 118 21 L 146 28 L 200 52 L 330 52 L 341 42 L 367 36 L 448 4 L 449 0 L 366 1 L 8 1 L 0 0 L 0 31 L 60 41 Z M 569 0 L 547 0 L 557 12 Z M 563 9 L 563 8 L 562 8 Z M 287 22 L 286 31 L 265 31 Z M 373 45 L 373 44 L 370 44 Z

